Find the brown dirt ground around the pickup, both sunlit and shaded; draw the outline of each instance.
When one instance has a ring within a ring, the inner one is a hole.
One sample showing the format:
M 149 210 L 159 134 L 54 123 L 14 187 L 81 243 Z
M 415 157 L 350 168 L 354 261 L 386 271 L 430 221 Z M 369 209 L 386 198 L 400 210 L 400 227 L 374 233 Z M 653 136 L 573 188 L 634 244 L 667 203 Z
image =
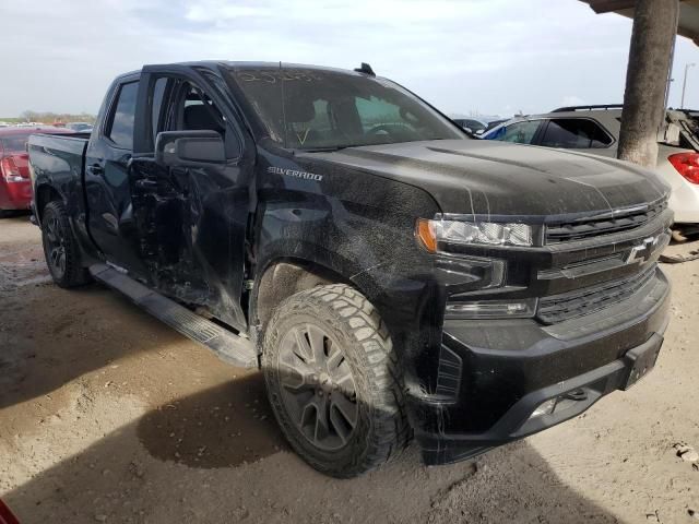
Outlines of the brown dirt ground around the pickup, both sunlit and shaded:
M 673 320 L 630 391 L 472 462 L 412 448 L 334 480 L 289 452 L 259 373 L 97 285 L 59 289 L 38 229 L 0 221 L 0 497 L 23 523 L 699 522 L 699 463 L 673 448 L 699 449 L 699 261 L 664 269 Z

